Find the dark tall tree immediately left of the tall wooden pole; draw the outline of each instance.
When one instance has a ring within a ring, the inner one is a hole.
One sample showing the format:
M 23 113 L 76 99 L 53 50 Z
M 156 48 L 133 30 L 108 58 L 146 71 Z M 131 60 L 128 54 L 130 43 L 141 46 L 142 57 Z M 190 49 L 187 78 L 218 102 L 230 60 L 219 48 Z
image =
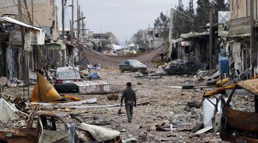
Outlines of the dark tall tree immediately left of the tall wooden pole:
M 200 29 L 199 27 L 205 26 L 210 22 L 210 2 L 209 0 L 198 0 L 196 8 L 195 17 L 195 28 L 197 32 L 206 31 L 205 29 Z

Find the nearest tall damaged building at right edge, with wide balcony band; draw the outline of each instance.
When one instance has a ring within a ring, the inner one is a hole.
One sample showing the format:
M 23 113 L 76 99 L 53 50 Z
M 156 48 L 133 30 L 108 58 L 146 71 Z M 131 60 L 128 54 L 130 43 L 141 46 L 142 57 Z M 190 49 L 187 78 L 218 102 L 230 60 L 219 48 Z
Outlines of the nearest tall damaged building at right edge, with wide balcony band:
M 249 70 L 250 64 L 250 1 L 230 1 L 230 20 L 218 25 L 221 47 L 226 50 L 229 65 L 240 72 Z M 257 0 L 253 1 L 254 33 L 257 35 Z M 257 38 L 254 47 L 257 47 Z M 233 64 L 234 63 L 234 64 Z M 254 53 L 254 69 L 257 65 L 257 52 Z M 246 70 L 247 69 L 247 70 Z M 254 70 L 255 71 L 255 70 Z M 247 72 L 248 73 L 248 72 Z M 257 68 L 256 68 L 257 74 Z

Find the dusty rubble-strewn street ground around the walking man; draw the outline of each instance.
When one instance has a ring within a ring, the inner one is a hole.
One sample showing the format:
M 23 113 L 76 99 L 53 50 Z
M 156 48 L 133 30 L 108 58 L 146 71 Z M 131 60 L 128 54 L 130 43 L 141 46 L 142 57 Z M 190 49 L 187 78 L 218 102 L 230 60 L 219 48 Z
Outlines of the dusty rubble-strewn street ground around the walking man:
M 99 76 L 111 83 L 111 90 L 123 90 L 126 88 L 126 82 L 132 82 L 133 89 L 137 90 L 137 102 L 143 103 L 149 101 L 149 105 L 137 106 L 134 109 L 134 115 L 132 123 L 127 122 L 126 114 L 117 114 L 120 107 L 109 108 L 82 108 L 71 109 L 71 113 L 81 113 L 87 123 L 92 122 L 109 122 L 111 125 L 105 125 L 104 127 L 115 128 L 125 127 L 127 130 L 121 134 L 122 139 L 127 138 L 132 134 L 138 138 L 139 134 L 147 133 L 150 142 L 157 142 L 153 140 L 153 136 L 157 138 L 167 138 L 171 136 L 171 131 L 156 131 L 150 128 L 146 128 L 155 124 L 158 120 L 158 116 L 165 117 L 164 120 L 170 122 L 181 122 L 190 125 L 177 126 L 172 132 L 174 138 L 181 138 L 172 142 L 222 142 L 219 134 L 215 134 L 212 131 L 206 132 L 198 137 L 188 138 L 190 131 L 178 131 L 182 128 L 193 127 L 198 121 L 200 121 L 201 109 L 186 110 L 186 103 L 193 100 L 201 100 L 205 89 L 172 89 L 165 88 L 166 86 L 184 86 L 186 82 L 189 85 L 201 86 L 202 84 L 197 78 L 192 76 L 162 76 L 162 77 L 147 77 L 147 78 L 133 78 L 132 73 L 120 73 L 118 69 L 104 69 L 101 70 Z M 30 88 L 32 93 L 33 86 Z M 5 94 L 11 94 L 12 96 L 18 96 L 22 92 L 22 88 L 5 88 Z M 117 101 L 107 100 L 107 95 L 79 95 L 75 93 L 69 93 L 81 99 L 97 98 L 97 104 L 93 105 L 111 105 L 120 104 L 121 94 Z M 51 110 L 55 107 L 42 107 L 43 110 Z M 125 108 L 122 108 L 122 112 L 125 112 Z M 140 128 L 141 127 L 141 128 Z M 160 142 L 160 141 L 158 141 Z M 171 142 L 171 141 L 170 141 Z

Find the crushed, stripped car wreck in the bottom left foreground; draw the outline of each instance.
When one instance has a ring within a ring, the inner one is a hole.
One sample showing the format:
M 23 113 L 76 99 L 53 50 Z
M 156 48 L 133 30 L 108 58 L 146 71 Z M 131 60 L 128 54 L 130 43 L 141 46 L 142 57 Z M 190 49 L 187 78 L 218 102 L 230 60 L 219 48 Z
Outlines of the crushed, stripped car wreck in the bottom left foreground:
M 120 132 L 86 124 L 80 114 L 53 111 L 32 113 L 26 128 L 0 130 L 0 142 L 96 141 L 121 142 Z

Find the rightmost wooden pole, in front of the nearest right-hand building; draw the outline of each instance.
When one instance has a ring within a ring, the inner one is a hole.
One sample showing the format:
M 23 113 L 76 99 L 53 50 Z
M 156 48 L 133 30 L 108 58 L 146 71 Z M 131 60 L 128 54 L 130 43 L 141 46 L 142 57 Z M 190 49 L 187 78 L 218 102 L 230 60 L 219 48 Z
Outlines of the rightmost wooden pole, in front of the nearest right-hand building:
M 254 75 L 254 28 L 253 28 L 253 0 L 250 0 L 250 65 L 251 65 L 251 74 L 252 78 Z

